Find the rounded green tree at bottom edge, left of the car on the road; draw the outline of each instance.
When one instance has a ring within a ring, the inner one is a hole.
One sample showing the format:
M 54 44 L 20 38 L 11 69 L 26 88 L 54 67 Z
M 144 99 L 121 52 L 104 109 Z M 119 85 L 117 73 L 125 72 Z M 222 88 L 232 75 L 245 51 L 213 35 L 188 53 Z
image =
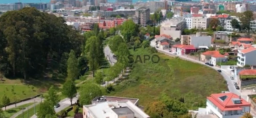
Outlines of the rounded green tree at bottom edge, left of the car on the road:
M 46 118 L 49 116 L 54 116 L 55 111 L 48 101 L 41 102 L 39 104 L 39 109 L 37 111 L 37 118 Z

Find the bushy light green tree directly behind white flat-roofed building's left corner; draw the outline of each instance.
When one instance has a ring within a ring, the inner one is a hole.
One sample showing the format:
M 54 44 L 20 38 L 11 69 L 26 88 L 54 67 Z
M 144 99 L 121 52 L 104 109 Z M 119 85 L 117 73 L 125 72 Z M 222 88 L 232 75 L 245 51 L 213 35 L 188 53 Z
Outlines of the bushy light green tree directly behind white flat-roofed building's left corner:
M 86 83 L 79 88 L 80 104 L 91 104 L 91 100 L 97 96 L 102 96 L 105 91 L 100 85 Z

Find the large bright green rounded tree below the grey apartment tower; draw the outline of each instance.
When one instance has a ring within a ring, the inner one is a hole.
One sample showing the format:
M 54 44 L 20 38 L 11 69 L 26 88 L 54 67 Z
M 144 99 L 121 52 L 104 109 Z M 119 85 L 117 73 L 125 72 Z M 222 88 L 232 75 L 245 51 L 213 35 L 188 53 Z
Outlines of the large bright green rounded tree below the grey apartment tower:
M 126 43 L 129 42 L 130 37 L 134 36 L 136 37 L 139 32 L 139 27 L 135 25 L 135 23 L 132 20 L 127 20 L 123 22 L 122 28 L 121 28 L 121 34 L 126 39 Z

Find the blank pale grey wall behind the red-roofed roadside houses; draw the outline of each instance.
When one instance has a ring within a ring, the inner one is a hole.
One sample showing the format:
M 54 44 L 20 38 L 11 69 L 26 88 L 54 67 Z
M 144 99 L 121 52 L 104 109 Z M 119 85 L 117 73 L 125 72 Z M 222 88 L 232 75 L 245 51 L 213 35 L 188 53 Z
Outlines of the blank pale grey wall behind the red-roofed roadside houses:
M 191 36 L 190 37 L 190 45 L 194 45 L 195 48 L 199 46 L 207 46 L 210 47 L 212 43 L 211 36 Z

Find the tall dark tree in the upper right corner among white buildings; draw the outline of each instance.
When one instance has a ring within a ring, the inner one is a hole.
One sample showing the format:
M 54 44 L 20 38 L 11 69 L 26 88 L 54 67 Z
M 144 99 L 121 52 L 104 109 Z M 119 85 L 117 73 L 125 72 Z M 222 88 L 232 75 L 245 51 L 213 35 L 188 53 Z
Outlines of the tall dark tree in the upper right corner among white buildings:
M 241 21 L 241 28 L 243 30 L 247 30 L 247 32 L 250 33 L 250 24 L 251 21 L 254 20 L 252 11 L 243 12 L 239 20 Z

